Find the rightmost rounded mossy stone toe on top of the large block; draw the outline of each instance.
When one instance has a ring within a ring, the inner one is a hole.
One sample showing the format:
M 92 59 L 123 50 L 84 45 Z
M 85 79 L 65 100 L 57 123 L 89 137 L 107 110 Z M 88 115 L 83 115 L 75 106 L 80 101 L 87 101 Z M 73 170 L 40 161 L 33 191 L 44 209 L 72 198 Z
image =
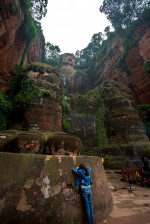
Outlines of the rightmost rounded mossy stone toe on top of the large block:
M 46 142 L 47 155 L 80 155 L 81 140 L 66 133 L 52 133 Z

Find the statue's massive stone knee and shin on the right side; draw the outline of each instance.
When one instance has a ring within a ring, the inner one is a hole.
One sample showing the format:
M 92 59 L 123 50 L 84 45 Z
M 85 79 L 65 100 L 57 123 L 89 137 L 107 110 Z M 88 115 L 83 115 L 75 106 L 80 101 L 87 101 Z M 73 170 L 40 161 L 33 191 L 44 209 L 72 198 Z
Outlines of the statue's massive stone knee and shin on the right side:
M 109 144 L 149 141 L 129 88 L 115 81 L 105 81 L 102 88 Z

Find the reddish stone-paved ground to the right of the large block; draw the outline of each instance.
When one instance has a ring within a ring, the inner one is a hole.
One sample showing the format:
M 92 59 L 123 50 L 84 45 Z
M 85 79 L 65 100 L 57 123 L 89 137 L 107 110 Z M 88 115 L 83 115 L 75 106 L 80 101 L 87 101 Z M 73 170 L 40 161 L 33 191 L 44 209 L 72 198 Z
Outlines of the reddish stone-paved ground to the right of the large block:
M 109 216 L 96 224 L 150 224 L 150 188 L 121 181 L 121 173 L 106 170 L 113 197 L 113 210 Z

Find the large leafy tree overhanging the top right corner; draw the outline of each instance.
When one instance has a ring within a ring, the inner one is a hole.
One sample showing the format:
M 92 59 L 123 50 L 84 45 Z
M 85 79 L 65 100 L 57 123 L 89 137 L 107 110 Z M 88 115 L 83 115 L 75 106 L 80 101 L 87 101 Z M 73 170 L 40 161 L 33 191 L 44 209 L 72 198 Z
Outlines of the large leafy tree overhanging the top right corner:
M 150 0 L 103 0 L 100 12 L 107 16 L 117 30 L 128 27 L 149 7 Z

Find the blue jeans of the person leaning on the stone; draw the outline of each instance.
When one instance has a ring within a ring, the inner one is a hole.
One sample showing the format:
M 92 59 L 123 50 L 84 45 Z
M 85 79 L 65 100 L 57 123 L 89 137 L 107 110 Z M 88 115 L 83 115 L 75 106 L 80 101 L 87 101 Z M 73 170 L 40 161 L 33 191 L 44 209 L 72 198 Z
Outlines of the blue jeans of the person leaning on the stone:
M 93 224 L 93 206 L 92 206 L 92 191 L 91 188 L 83 188 L 81 190 L 82 200 L 88 219 L 88 224 Z

